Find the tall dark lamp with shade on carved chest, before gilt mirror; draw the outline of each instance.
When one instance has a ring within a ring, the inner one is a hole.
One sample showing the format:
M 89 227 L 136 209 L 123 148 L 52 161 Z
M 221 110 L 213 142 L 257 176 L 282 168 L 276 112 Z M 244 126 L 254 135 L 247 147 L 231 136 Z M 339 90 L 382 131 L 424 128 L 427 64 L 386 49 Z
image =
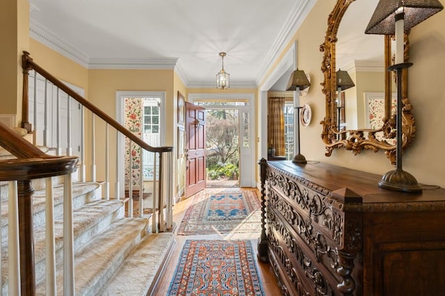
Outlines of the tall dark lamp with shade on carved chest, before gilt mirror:
M 397 73 L 396 170 L 382 176 L 378 186 L 395 191 L 420 193 L 416 178 L 402 168 L 402 71 L 412 66 L 405 62 L 403 35 L 428 17 L 444 9 L 437 0 L 380 0 L 366 27 L 366 34 L 396 35 L 396 64 L 387 71 Z

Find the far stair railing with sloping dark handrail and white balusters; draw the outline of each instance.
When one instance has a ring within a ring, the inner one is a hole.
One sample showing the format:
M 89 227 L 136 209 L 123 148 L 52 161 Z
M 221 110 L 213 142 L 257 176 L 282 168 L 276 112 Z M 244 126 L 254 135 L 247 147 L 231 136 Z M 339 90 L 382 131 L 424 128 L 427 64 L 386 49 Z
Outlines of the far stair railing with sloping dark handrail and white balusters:
M 81 168 L 81 180 L 85 181 L 85 168 L 86 168 L 86 162 L 85 162 L 85 152 L 83 149 L 83 144 L 85 144 L 85 133 L 84 133 L 84 125 L 83 125 L 83 121 L 85 119 L 85 114 L 84 114 L 84 109 L 86 110 L 90 110 L 91 112 L 91 159 L 90 159 L 90 163 L 91 163 L 91 171 L 90 171 L 90 181 L 92 182 L 97 182 L 97 169 L 96 169 L 96 150 L 97 150 L 97 145 L 96 145 L 96 134 L 97 134 L 97 127 L 96 127 L 96 119 L 97 117 L 99 117 L 100 119 L 102 119 L 105 122 L 105 130 L 103 131 L 105 134 L 105 138 L 106 138 L 106 143 L 104 143 L 102 145 L 102 147 L 104 147 L 104 152 L 103 153 L 99 153 L 99 155 L 104 155 L 105 157 L 105 169 L 106 169 L 106 173 L 104 174 L 105 177 L 105 181 L 104 181 L 104 188 L 105 188 L 105 198 L 109 198 L 109 184 L 110 184 L 110 180 L 109 180 L 109 159 L 116 159 L 116 180 L 115 180 L 115 194 L 116 194 L 116 198 L 120 199 L 122 198 L 121 196 L 121 192 L 122 190 L 122 186 L 121 186 L 121 182 L 119 180 L 119 173 L 118 170 L 122 170 L 122 168 L 120 168 L 119 164 L 120 164 L 120 155 L 109 155 L 109 150 L 108 150 L 108 146 L 110 146 L 109 143 L 109 139 L 111 137 L 109 137 L 108 135 L 108 127 L 111 125 L 113 128 L 115 128 L 116 131 L 116 151 L 118 151 L 118 147 L 119 147 L 119 142 L 118 142 L 118 138 L 120 137 L 118 134 L 120 134 L 121 136 L 126 137 L 127 139 L 129 139 L 130 141 L 130 145 L 131 147 L 133 146 L 132 144 L 134 143 L 136 146 L 139 146 L 141 149 L 141 153 L 140 153 L 140 162 L 142 163 L 142 151 L 148 151 L 149 153 L 154 153 L 154 166 L 153 166 L 153 175 L 154 175 L 154 180 L 153 180 L 153 187 L 154 187 L 154 192 L 153 192 L 153 204 L 152 204 L 152 232 L 163 232 L 165 229 L 170 229 L 172 227 L 172 197 L 173 197 L 173 147 L 170 146 L 162 146 L 162 147 L 154 147 L 154 146 L 150 146 L 148 143 L 146 143 L 145 141 L 143 141 L 143 139 L 140 139 L 138 136 L 136 136 L 136 134 L 133 134 L 133 132 L 131 132 L 130 130 L 128 130 L 127 128 L 125 128 L 123 125 L 121 125 L 120 123 L 118 123 L 118 121 L 115 121 L 115 119 L 113 119 L 111 116 L 109 116 L 108 114 L 106 114 L 105 112 L 103 112 L 102 110 L 99 109 L 99 107 L 96 107 L 95 105 L 93 105 L 92 103 L 90 103 L 90 101 L 87 101 L 86 98 L 83 98 L 83 96 L 79 95 L 78 93 L 74 92 L 74 90 L 70 87 L 68 87 L 65 83 L 63 83 L 62 81 L 58 80 L 56 77 L 52 76 L 51 73 L 49 73 L 48 71 L 44 70 L 42 67 L 40 67 L 38 64 L 36 64 L 33 59 L 29 56 L 29 53 L 24 51 L 24 54 L 22 56 L 22 68 L 23 68 L 23 74 L 24 74 L 24 85 L 23 85 L 23 99 L 22 99 L 22 128 L 26 128 L 26 130 L 28 130 L 28 132 L 33 132 L 33 139 L 37 139 L 37 129 L 35 128 L 35 125 L 37 124 L 36 121 L 36 115 L 34 116 L 34 130 L 33 130 L 33 124 L 29 123 L 29 72 L 31 70 L 34 70 L 36 73 L 39 73 L 42 77 L 44 77 L 46 82 L 51 82 L 52 85 L 54 85 L 54 87 L 56 87 L 56 93 L 57 93 L 57 99 L 59 100 L 59 96 L 60 96 L 60 92 L 63 92 L 65 94 L 67 94 L 68 97 L 68 101 L 70 102 L 70 99 L 73 98 L 75 101 L 77 101 L 81 106 L 83 106 L 81 108 L 81 123 L 82 123 L 82 128 L 81 128 L 81 150 L 80 150 L 80 158 L 81 158 L 81 163 L 80 163 L 80 168 Z M 36 76 L 34 76 L 34 79 L 36 79 Z M 35 80 L 36 81 L 36 80 Z M 37 89 L 36 87 L 36 82 L 34 82 L 34 89 Z M 45 89 L 47 89 L 46 87 L 46 83 L 45 83 Z M 47 94 L 47 90 L 45 90 L 45 96 Z M 37 99 L 36 99 L 36 91 L 34 91 L 34 107 L 33 107 L 33 112 L 34 114 L 38 114 L 37 110 L 38 110 L 38 105 L 37 105 Z M 45 100 L 47 101 L 47 100 Z M 70 103 L 67 103 L 67 106 L 70 106 Z M 49 112 L 47 112 L 48 106 L 45 105 L 44 106 L 44 114 L 49 114 Z M 59 110 L 59 107 L 57 106 L 57 110 Z M 57 114 L 59 114 L 59 111 L 57 112 Z M 47 116 L 47 115 L 45 115 Z M 70 113 L 68 112 L 67 116 L 70 116 Z M 67 119 L 68 122 L 70 122 L 70 119 Z M 57 123 L 60 121 L 60 118 L 56 119 Z M 47 139 L 47 134 L 48 134 L 48 126 L 47 124 L 47 119 L 44 120 L 44 128 L 43 130 L 44 132 L 44 139 Z M 58 130 L 59 130 L 59 125 L 58 126 Z M 70 134 L 71 134 L 71 128 L 68 126 L 68 148 L 67 148 L 67 155 L 70 155 L 70 152 L 72 151 L 72 149 L 70 149 Z M 57 135 L 59 135 L 59 132 L 57 132 Z M 60 139 L 57 139 L 57 143 L 60 143 Z M 57 151 L 60 151 L 60 147 L 58 147 L 56 149 Z M 131 149 L 132 150 L 132 149 Z M 131 158 L 131 157 L 130 157 Z M 132 168 L 132 164 L 131 162 L 129 162 L 129 171 L 132 172 L 133 168 Z M 130 177 L 132 176 L 132 173 L 129 174 Z M 143 166 L 140 165 L 140 171 L 139 171 L 139 176 L 140 176 L 140 190 L 139 190 L 139 215 L 138 216 L 143 216 Z M 129 191 L 129 200 L 127 202 L 127 213 L 129 217 L 133 216 L 133 181 L 131 180 L 128 184 L 128 191 Z

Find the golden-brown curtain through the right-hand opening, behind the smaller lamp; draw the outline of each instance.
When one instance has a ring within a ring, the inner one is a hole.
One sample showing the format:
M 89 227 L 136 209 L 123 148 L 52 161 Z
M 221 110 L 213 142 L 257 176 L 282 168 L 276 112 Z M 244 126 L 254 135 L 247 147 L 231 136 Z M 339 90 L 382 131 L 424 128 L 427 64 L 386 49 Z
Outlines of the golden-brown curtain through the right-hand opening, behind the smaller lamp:
M 286 98 L 268 98 L 268 147 L 275 155 L 286 155 L 284 147 L 284 102 Z

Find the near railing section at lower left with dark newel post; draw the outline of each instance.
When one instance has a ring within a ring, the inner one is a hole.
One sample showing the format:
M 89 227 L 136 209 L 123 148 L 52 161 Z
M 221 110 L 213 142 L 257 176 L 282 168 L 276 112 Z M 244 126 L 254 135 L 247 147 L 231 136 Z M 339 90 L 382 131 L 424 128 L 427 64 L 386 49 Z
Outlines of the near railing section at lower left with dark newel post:
M 0 181 L 8 182 L 8 294 L 35 295 L 33 188 L 31 180 L 46 178 L 46 291 L 47 295 L 56 295 L 52 177 L 65 175 L 63 200 L 63 229 L 65 234 L 63 236 L 63 266 L 65 272 L 63 284 L 64 295 L 74 295 L 71 176 L 76 171 L 78 158 L 46 155 L 3 123 L 0 123 L 0 146 L 17 157 L 17 159 L 0 161 Z M 0 287 L 3 288 L 1 277 Z

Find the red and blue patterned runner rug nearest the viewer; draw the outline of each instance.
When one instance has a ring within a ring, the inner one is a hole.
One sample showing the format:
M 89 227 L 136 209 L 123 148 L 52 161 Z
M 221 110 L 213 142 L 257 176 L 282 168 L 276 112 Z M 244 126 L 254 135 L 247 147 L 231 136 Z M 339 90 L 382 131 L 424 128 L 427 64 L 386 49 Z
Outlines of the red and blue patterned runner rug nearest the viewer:
M 250 241 L 186 240 L 168 296 L 261 296 Z

